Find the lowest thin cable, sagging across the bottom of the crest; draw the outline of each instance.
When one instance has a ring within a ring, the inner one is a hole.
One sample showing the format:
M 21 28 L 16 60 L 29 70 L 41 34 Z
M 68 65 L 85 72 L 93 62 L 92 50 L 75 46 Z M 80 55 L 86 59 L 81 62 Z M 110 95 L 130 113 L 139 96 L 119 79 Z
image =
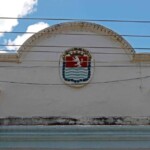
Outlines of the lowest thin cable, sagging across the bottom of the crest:
M 133 81 L 133 80 L 140 80 L 140 79 L 147 79 L 150 78 L 150 76 L 144 76 L 144 77 L 136 77 L 136 78 L 129 78 L 129 79 L 122 79 L 122 80 L 112 80 L 112 81 L 103 81 L 103 82 L 90 82 L 88 84 L 105 84 L 105 83 L 117 83 L 117 82 L 125 82 L 125 81 Z M 21 84 L 21 85 L 66 85 L 61 83 L 31 83 L 31 82 L 17 82 L 17 81 L 0 81 L 0 83 L 9 83 L 9 84 Z M 82 83 L 87 84 L 87 83 Z M 72 84 L 76 85 L 76 84 Z

